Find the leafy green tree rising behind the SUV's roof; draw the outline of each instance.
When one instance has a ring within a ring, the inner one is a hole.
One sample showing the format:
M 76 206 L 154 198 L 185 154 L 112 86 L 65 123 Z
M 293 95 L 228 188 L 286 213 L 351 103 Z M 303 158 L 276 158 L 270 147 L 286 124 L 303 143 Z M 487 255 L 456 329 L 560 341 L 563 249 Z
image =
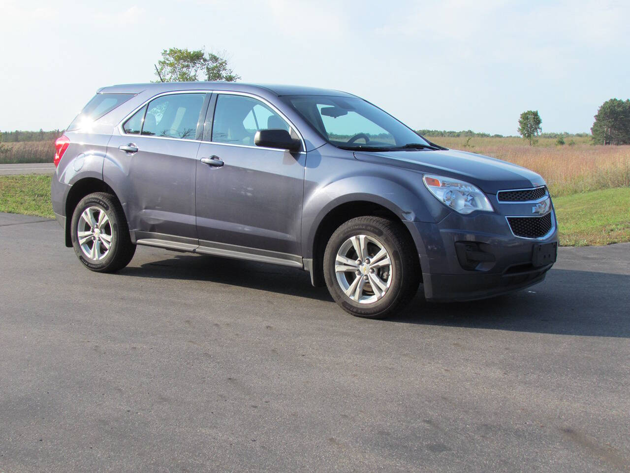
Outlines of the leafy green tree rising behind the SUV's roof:
M 241 78 L 227 66 L 227 59 L 205 49 L 170 48 L 162 51 L 156 76 L 164 82 L 227 81 Z

